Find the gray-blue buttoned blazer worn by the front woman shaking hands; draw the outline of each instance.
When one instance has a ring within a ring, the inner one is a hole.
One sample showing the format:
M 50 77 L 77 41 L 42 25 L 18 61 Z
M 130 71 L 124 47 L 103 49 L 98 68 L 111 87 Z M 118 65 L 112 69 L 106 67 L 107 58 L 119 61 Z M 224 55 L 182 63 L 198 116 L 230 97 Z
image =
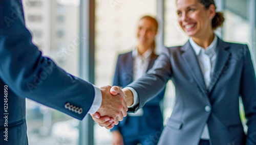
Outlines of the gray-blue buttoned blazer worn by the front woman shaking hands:
M 189 42 L 164 48 L 153 68 L 128 86 L 138 92 L 142 107 L 169 79 L 176 86 L 176 101 L 159 144 L 196 145 L 205 123 L 210 144 L 256 144 L 256 78 L 247 45 L 218 38 L 216 66 L 208 90 Z M 240 119 L 239 96 L 248 119 L 247 135 Z

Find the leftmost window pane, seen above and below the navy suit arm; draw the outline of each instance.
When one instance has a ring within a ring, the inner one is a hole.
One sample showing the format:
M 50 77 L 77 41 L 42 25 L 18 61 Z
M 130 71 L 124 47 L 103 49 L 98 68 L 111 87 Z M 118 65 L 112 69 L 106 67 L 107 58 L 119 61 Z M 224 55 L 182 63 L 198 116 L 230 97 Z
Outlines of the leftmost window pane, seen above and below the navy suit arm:
M 27 28 L 44 56 L 78 76 L 79 0 L 23 1 Z M 29 144 L 78 144 L 79 121 L 27 100 Z

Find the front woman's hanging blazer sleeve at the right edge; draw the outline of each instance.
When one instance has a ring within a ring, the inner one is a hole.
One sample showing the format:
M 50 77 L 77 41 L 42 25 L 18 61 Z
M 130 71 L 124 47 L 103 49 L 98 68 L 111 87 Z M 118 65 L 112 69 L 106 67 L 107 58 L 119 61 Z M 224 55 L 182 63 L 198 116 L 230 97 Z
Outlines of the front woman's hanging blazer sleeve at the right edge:
M 244 66 L 241 79 L 240 93 L 248 126 L 246 145 L 256 144 L 256 78 L 247 45 L 244 45 Z

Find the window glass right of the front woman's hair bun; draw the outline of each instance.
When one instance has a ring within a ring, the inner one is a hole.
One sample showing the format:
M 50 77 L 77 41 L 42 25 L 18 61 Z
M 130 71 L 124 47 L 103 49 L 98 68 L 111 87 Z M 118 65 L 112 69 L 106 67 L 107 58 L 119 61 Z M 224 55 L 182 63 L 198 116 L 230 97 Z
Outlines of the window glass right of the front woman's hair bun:
M 224 3 L 225 22 L 223 27 L 223 40 L 235 43 L 248 44 L 252 49 L 251 27 L 248 20 L 248 3 L 247 1 L 226 0 Z M 251 54 L 252 54 L 252 50 Z M 240 98 L 240 116 L 247 131 L 244 107 Z

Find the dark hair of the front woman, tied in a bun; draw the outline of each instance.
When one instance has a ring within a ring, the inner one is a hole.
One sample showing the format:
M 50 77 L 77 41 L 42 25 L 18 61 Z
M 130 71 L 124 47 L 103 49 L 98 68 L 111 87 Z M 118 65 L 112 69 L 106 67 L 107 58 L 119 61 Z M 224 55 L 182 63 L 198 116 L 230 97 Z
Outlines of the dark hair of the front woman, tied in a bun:
M 205 9 L 209 9 L 211 4 L 216 7 L 214 0 L 199 0 L 199 3 L 203 4 Z M 216 30 L 218 27 L 222 27 L 224 20 L 224 14 L 222 12 L 216 12 L 216 15 L 211 21 L 212 29 Z

